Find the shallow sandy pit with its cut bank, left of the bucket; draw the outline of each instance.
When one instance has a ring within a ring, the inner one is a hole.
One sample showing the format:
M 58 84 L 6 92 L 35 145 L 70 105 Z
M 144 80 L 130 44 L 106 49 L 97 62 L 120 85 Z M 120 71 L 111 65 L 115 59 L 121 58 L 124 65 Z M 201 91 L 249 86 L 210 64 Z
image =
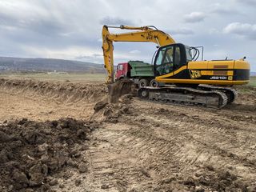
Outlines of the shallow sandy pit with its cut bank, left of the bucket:
M 88 119 L 94 114 L 94 103 L 106 93 L 102 83 L 0 79 L 0 122 L 15 118 Z

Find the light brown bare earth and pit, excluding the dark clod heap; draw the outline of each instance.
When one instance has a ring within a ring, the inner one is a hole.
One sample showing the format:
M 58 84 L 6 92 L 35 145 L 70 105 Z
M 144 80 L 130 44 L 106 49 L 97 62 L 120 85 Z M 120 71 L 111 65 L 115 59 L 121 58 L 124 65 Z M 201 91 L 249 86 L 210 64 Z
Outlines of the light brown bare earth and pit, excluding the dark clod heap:
M 94 114 L 106 94 L 102 84 L 2 80 L 0 122 L 100 122 L 74 158 L 86 172 L 67 166 L 51 174 L 58 180 L 51 191 L 255 191 L 255 93 L 242 90 L 222 110 L 127 97 Z

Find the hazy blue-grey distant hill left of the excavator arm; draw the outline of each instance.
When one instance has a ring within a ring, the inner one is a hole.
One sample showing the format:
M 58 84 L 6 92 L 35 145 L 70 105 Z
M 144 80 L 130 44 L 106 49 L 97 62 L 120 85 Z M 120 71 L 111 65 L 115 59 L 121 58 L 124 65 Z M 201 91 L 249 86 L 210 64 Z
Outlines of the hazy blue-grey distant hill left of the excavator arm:
M 0 72 L 8 71 L 61 71 L 105 73 L 102 64 L 78 62 L 54 58 L 7 58 L 0 57 Z

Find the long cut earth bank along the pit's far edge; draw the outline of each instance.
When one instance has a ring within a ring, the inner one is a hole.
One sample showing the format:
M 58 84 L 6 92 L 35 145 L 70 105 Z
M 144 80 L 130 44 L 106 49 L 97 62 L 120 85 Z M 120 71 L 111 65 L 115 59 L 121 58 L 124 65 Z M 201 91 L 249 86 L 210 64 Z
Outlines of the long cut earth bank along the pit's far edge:
M 8 92 L 33 92 L 62 102 L 98 102 L 107 93 L 102 83 L 45 82 L 37 80 L 0 79 L 0 87 Z

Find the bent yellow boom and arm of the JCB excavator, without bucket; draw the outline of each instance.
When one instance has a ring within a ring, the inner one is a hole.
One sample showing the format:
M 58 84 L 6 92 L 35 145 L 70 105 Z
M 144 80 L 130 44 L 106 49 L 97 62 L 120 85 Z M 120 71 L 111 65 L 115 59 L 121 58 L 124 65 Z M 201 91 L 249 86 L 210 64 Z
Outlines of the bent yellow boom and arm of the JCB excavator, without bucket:
M 110 34 L 108 30 L 109 28 L 136 31 L 122 34 Z M 158 44 L 158 46 L 166 46 L 175 43 L 174 39 L 171 38 L 169 34 L 156 29 L 154 26 L 103 26 L 102 50 L 104 56 L 104 64 L 108 74 L 106 83 L 114 82 L 113 42 L 154 42 Z

